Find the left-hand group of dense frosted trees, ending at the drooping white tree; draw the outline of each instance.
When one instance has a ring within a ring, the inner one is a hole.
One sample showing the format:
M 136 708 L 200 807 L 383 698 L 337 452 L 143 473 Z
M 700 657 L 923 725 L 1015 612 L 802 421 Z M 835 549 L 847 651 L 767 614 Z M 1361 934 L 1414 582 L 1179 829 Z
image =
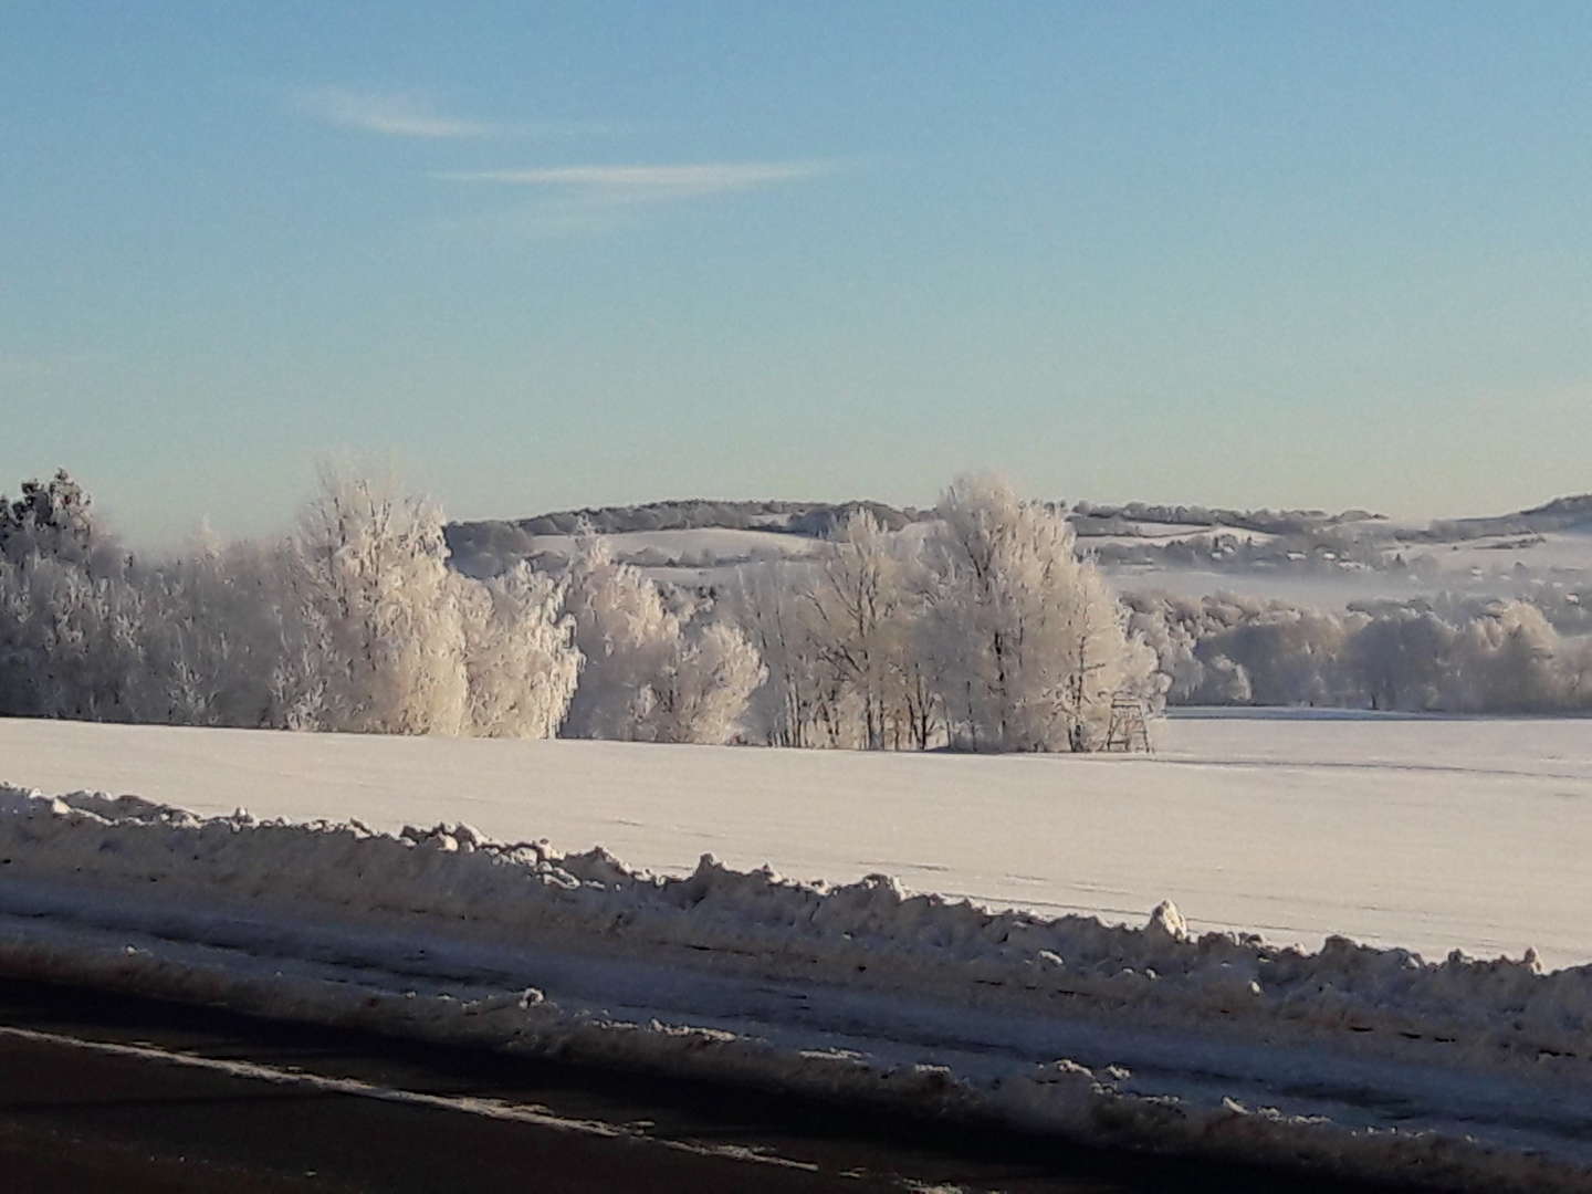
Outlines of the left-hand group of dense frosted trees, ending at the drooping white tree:
M 158 564 L 37 527 L 3 540 L 0 713 L 537 737 L 568 708 L 559 584 L 454 573 L 441 514 L 390 484 L 328 471 L 293 535 Z

